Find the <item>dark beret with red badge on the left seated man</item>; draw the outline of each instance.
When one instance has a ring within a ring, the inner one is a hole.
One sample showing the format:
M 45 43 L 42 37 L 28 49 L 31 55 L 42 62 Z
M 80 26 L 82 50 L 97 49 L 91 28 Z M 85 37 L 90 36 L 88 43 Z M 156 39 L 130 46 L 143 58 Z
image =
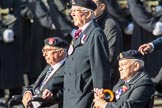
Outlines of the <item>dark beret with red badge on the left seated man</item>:
M 45 45 L 59 47 L 59 48 L 68 48 L 69 44 L 60 37 L 51 37 L 44 40 Z

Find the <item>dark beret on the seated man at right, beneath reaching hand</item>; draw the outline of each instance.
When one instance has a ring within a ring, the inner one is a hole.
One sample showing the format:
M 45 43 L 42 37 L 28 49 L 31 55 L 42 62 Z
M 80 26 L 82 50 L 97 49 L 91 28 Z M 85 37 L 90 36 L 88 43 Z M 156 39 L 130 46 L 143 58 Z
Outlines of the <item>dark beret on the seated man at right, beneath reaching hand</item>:
M 118 60 L 121 59 L 140 59 L 143 60 L 143 55 L 137 50 L 128 50 L 119 54 Z

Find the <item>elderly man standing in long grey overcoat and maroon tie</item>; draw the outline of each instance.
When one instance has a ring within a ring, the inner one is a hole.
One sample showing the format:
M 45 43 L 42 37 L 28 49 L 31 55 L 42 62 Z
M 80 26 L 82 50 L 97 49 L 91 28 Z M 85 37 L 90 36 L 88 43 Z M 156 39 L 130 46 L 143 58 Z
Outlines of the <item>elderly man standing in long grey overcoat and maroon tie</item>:
M 64 108 L 90 108 L 92 89 L 110 88 L 107 38 L 95 21 L 92 0 L 72 0 L 71 16 L 78 27 L 68 50 L 64 74 Z

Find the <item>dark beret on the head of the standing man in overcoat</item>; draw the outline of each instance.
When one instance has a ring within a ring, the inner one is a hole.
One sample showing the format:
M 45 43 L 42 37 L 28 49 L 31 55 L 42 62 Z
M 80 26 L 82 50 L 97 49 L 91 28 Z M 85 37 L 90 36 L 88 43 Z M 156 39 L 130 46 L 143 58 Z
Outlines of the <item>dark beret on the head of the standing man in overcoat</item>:
M 81 6 L 91 10 L 96 10 L 97 5 L 92 0 L 71 0 L 72 5 Z

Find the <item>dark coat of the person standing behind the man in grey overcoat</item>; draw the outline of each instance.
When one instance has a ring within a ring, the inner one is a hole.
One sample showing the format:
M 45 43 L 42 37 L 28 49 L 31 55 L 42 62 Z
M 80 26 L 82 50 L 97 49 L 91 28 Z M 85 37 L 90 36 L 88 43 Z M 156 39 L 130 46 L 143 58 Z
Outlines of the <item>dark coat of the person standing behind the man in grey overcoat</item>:
M 119 80 L 117 57 L 123 49 L 122 33 L 119 25 L 109 16 L 107 11 L 97 18 L 97 22 L 104 30 L 109 42 L 109 61 L 111 64 L 111 73 L 113 74 L 111 84 L 113 83 L 112 85 L 114 85 Z

